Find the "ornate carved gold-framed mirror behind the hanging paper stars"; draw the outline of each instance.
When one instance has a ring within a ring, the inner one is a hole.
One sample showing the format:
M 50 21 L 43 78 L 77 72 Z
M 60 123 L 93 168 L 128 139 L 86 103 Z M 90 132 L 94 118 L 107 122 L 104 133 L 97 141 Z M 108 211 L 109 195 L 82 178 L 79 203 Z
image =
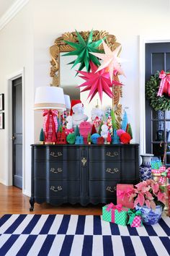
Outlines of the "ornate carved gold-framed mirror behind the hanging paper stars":
M 84 40 L 87 40 L 89 37 L 89 31 L 79 32 Z M 115 48 L 120 46 L 120 43 L 117 43 L 115 35 L 109 35 L 106 31 L 93 31 L 93 41 L 99 40 L 105 37 L 107 46 L 114 51 Z M 75 76 L 75 73 L 72 72 L 71 66 L 68 65 L 71 62 L 71 59 L 66 59 L 66 56 L 62 56 L 62 53 L 73 51 L 74 49 L 66 44 L 65 40 L 71 41 L 73 43 L 79 42 L 76 32 L 63 33 L 61 37 L 56 38 L 53 46 L 50 47 L 50 56 L 51 56 L 51 67 L 50 67 L 50 77 L 53 77 L 53 82 L 51 86 L 61 86 L 66 94 L 71 95 L 72 97 L 79 98 L 80 90 L 76 86 L 79 85 L 79 78 Z M 99 49 L 103 50 L 103 46 L 99 46 Z M 120 54 L 120 52 L 119 52 Z M 67 56 L 68 57 L 68 56 Z M 75 59 L 75 58 L 74 58 Z M 72 59 L 73 60 L 73 59 Z M 66 79 L 69 81 L 69 85 L 66 85 Z M 73 79 L 73 80 L 72 80 Z M 115 77 L 115 80 L 119 81 L 118 77 Z M 82 82 L 82 81 L 81 81 Z M 112 88 L 114 93 L 114 98 L 110 99 L 107 96 L 107 106 L 110 104 L 115 111 L 115 117 L 117 120 L 117 128 L 120 127 L 121 115 L 122 115 L 122 105 L 120 104 L 120 98 L 122 97 L 122 87 L 114 86 Z M 81 93 L 83 94 L 83 93 Z M 105 103 L 106 104 L 106 103 Z M 92 104 L 91 104 L 92 105 Z M 94 107 L 94 106 L 93 106 Z M 92 106 L 91 106 L 92 109 Z

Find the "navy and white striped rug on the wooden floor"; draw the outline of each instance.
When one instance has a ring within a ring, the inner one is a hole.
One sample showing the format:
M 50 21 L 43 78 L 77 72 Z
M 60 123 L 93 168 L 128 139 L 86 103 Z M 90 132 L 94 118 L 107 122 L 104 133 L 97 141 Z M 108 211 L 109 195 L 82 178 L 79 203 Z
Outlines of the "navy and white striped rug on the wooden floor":
M 5 215 L 0 220 L 0 255 L 169 256 L 170 218 L 130 228 L 101 216 Z

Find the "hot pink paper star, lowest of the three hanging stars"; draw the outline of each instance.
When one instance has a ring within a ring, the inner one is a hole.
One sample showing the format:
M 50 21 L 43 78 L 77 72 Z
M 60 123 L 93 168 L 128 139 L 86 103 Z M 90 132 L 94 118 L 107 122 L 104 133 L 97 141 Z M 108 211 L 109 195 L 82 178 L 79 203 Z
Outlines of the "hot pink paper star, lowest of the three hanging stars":
M 86 86 L 84 90 L 81 90 L 81 93 L 85 92 L 86 90 L 90 90 L 88 95 L 88 98 L 91 96 L 90 101 L 92 100 L 92 98 L 94 98 L 94 95 L 96 95 L 96 93 L 99 93 L 99 98 L 102 102 L 103 92 L 106 93 L 110 98 L 112 98 L 113 93 L 112 90 L 110 90 L 110 88 L 112 88 L 112 85 L 122 84 L 115 80 L 111 82 L 109 79 L 109 73 L 105 72 L 105 69 L 97 72 L 98 67 L 92 61 L 90 61 L 89 64 L 91 67 L 91 72 L 78 71 L 80 74 L 82 74 L 79 77 L 86 80 L 86 82 L 78 86 L 78 88 Z

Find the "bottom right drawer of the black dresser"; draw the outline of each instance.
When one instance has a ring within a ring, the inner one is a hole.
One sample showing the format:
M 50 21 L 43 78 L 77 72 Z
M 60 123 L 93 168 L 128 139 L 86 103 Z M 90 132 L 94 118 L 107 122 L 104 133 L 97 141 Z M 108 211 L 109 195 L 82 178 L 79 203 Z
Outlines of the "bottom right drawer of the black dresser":
M 116 184 L 119 181 L 90 181 L 89 196 L 90 197 L 108 197 L 116 196 Z

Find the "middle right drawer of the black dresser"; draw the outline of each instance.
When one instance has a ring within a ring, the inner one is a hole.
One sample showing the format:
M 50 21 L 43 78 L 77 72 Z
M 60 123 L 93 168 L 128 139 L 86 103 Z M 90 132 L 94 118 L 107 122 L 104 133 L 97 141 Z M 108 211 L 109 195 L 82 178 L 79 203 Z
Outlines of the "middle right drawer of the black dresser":
M 89 179 L 120 179 L 120 162 L 92 162 L 89 163 Z

